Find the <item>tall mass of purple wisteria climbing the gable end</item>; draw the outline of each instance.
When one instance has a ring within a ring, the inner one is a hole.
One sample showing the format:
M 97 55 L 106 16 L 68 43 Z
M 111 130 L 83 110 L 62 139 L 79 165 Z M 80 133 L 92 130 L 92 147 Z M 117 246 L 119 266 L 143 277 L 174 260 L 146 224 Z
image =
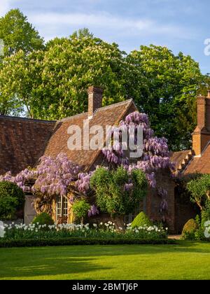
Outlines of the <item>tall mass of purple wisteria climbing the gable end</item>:
M 130 127 L 134 127 L 134 131 L 130 132 Z M 125 156 L 122 140 L 123 130 L 128 130 L 129 136 L 134 136 L 134 144 L 137 144 L 137 128 L 141 126 L 143 129 L 143 154 L 139 161 L 129 165 L 129 159 Z M 119 140 L 115 142 L 115 146 L 109 146 L 102 150 L 104 158 L 111 164 L 123 165 L 130 172 L 132 169 L 142 169 L 146 173 L 146 177 L 151 187 L 155 188 L 155 172 L 158 169 L 173 168 L 169 159 L 169 149 L 167 139 L 154 136 L 154 132 L 149 125 L 148 116 L 145 113 L 134 111 L 126 116 L 125 120 L 120 122 L 119 127 L 114 127 L 111 130 L 110 136 L 114 132 L 120 134 Z M 117 149 L 116 149 L 117 146 Z M 127 183 L 125 188 L 129 188 L 130 183 Z

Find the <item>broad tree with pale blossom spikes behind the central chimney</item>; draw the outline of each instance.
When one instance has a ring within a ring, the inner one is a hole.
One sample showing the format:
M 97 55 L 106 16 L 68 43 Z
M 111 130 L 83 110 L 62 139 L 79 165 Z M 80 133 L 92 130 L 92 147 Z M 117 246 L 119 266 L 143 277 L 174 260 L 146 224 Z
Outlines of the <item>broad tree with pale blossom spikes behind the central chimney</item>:
M 89 85 L 102 85 L 104 105 L 123 101 L 123 54 L 115 43 L 82 30 L 70 38 L 55 38 L 45 51 L 9 57 L 0 80 L 2 76 L 8 97 L 27 106 L 27 116 L 60 119 L 87 111 Z

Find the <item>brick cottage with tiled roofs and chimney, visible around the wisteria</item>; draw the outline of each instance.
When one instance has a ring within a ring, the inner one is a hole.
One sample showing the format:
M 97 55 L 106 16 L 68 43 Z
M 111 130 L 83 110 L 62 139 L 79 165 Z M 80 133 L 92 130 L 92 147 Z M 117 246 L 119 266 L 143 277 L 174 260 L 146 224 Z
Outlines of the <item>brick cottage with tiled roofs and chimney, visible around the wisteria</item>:
M 99 150 L 84 150 L 83 145 L 81 150 L 69 150 L 69 126 L 78 125 L 83 130 L 83 120 L 88 120 L 90 127 L 100 125 L 105 132 L 106 125 L 118 125 L 129 113 L 137 111 L 137 107 L 132 99 L 102 107 L 102 90 L 89 87 L 87 92 L 88 111 L 70 118 L 47 121 L 0 116 L 0 174 L 8 171 L 18 174 L 26 167 L 36 167 L 42 155 L 55 157 L 61 152 L 66 153 L 69 160 L 83 166 L 85 171 L 101 164 L 103 155 Z M 169 171 L 157 174 L 157 179 L 160 186 L 168 192 L 167 224 L 169 230 L 175 232 L 174 181 L 169 176 Z M 28 196 L 25 204 L 26 223 L 34 218 L 35 211 L 30 205 L 32 199 L 32 196 Z M 153 221 L 162 221 L 160 202 L 157 190 L 150 189 L 146 199 L 139 204 L 139 210 L 144 210 Z M 73 221 L 71 204 L 65 197 L 55 198 L 52 216 L 55 221 Z M 108 219 L 109 216 L 102 214 L 99 218 Z M 126 216 L 125 221 L 132 221 L 132 218 L 132 215 Z

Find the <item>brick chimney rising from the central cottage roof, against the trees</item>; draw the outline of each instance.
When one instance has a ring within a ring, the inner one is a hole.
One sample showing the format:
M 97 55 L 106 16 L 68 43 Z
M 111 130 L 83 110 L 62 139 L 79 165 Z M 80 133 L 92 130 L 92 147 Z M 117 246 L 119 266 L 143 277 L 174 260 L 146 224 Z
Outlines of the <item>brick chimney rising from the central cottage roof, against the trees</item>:
M 103 90 L 101 87 L 90 86 L 88 93 L 88 118 L 92 118 L 94 111 L 102 107 Z

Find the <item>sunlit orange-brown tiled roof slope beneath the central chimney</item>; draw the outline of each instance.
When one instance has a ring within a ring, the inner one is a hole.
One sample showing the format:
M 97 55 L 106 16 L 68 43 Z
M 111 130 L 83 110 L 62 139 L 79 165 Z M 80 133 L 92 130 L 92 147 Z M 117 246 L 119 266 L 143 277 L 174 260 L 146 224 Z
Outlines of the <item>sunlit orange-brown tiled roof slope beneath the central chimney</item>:
M 97 111 L 94 113 L 94 116 L 90 118 L 90 127 L 93 125 L 102 126 L 105 137 L 106 125 L 118 125 L 120 120 L 122 120 L 128 113 L 135 110 L 137 110 L 137 108 L 134 106 L 132 99 L 102 107 L 97 109 Z M 100 151 L 83 150 L 83 140 L 82 150 L 69 150 L 67 148 L 67 141 L 70 137 L 70 135 L 67 134 L 68 128 L 71 125 L 78 125 L 81 130 L 83 130 L 83 120 L 87 120 L 87 113 L 81 113 L 76 116 L 71 116 L 70 118 L 59 120 L 56 123 L 55 130 L 45 150 L 45 155 L 56 156 L 60 152 L 64 152 L 68 156 L 69 160 L 78 163 L 78 165 L 85 166 L 87 169 L 90 168 L 94 164 L 95 160 L 97 160 L 97 157 L 100 155 Z

